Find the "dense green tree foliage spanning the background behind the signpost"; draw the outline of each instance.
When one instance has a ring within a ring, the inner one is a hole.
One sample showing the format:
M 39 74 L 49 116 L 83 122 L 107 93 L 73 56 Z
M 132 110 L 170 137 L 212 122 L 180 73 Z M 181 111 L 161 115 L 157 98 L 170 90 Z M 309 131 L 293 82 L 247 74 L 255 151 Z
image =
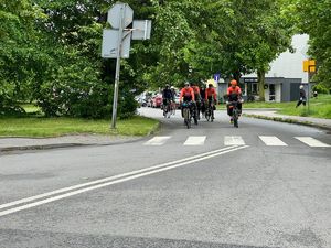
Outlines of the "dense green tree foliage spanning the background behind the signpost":
M 115 61 L 100 57 L 100 44 L 115 2 L 0 0 L 0 108 L 31 100 L 49 116 L 110 116 Z M 135 19 L 152 20 L 152 35 L 131 41 L 130 57 L 121 61 L 119 115 L 134 115 L 134 96 L 146 88 L 201 82 L 216 72 L 237 79 L 264 75 L 303 17 L 300 28 L 312 37 L 319 79 L 330 82 L 331 8 L 322 0 L 313 11 L 311 2 L 128 0 Z

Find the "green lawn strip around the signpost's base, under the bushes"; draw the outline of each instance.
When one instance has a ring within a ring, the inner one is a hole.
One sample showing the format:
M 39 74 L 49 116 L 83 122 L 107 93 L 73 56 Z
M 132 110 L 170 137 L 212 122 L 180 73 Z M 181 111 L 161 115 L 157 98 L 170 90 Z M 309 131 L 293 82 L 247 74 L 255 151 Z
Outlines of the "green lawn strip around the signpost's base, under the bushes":
M 58 137 L 66 134 L 98 133 L 111 136 L 146 136 L 159 126 L 157 120 L 134 117 L 118 120 L 116 130 L 110 130 L 110 120 L 77 118 L 1 117 L 1 137 Z

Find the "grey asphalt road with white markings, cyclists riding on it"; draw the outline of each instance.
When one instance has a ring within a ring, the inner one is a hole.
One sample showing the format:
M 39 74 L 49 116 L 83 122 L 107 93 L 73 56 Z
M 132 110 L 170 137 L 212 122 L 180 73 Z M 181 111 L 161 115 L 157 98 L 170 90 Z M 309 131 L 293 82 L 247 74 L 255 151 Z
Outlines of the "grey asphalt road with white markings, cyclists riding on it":
M 331 247 L 330 134 L 140 111 L 159 133 L 0 157 L 0 247 Z

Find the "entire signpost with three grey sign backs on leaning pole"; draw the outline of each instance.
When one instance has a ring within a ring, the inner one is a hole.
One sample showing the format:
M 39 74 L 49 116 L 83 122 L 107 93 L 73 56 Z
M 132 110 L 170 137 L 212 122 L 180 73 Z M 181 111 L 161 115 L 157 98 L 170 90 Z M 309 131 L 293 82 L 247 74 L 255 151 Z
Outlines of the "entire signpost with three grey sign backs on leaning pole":
M 120 58 L 130 55 L 131 34 L 132 40 L 150 39 L 151 21 L 134 21 L 134 29 L 126 29 L 132 19 L 134 10 L 129 4 L 117 2 L 108 10 L 107 21 L 113 29 L 103 32 L 102 57 L 116 58 L 111 129 L 116 128 Z

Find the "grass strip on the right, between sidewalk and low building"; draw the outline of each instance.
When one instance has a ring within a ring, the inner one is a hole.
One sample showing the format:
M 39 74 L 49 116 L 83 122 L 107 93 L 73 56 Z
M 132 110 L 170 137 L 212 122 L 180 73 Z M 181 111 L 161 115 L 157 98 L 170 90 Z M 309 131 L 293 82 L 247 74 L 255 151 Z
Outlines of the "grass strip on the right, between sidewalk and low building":
M 297 101 L 289 103 L 244 103 L 243 109 L 247 108 L 278 108 L 278 114 L 289 116 L 311 116 L 317 118 L 331 119 L 331 95 L 320 95 L 317 99 L 310 98 L 309 111 L 308 105 L 296 108 Z M 224 109 L 225 105 L 217 106 L 217 109 Z

